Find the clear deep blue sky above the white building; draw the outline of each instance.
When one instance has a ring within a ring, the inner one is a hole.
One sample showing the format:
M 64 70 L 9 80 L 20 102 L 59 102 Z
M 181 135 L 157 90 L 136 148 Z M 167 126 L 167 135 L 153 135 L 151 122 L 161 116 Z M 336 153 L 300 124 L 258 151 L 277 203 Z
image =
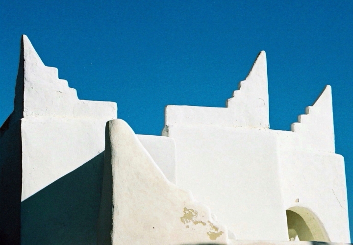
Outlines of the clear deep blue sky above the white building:
M 2 0 L 0 33 L 1 122 L 22 34 L 79 98 L 116 101 L 140 134 L 160 134 L 167 104 L 225 106 L 260 50 L 272 129 L 289 130 L 330 84 L 353 227 L 352 0 Z

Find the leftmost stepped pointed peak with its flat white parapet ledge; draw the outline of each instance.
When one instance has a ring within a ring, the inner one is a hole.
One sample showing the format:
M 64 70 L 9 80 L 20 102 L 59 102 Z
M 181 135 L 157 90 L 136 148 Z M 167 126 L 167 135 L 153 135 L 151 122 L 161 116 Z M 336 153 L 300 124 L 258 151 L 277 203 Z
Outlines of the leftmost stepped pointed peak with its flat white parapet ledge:
M 21 38 L 14 112 L 6 128 L 24 117 L 116 118 L 114 102 L 79 100 L 76 90 L 58 77 L 58 69 L 45 66 L 26 35 Z M 3 126 L 2 131 L 6 128 Z

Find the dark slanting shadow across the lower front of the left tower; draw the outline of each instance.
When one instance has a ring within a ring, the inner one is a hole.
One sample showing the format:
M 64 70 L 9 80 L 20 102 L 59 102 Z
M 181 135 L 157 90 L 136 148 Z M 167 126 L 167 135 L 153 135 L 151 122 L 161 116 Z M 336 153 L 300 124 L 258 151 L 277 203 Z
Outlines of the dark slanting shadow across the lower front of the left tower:
M 96 245 L 104 151 L 21 205 L 25 245 Z

